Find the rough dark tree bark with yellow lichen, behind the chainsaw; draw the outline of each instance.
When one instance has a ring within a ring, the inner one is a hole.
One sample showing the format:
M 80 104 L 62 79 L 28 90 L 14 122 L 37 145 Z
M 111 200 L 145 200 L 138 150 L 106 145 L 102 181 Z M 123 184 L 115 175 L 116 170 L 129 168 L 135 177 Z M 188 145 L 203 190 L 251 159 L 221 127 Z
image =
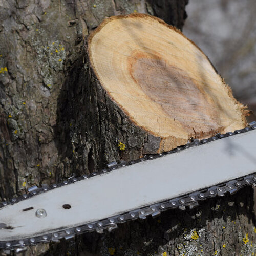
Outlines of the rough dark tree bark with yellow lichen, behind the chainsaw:
M 139 156 L 144 134 L 91 80 L 83 38 L 105 16 L 134 11 L 182 28 L 186 2 L 0 0 L 0 200 Z M 120 151 L 118 140 L 129 147 Z M 243 189 L 192 211 L 167 211 L 24 254 L 248 255 L 255 250 L 252 205 L 251 189 Z

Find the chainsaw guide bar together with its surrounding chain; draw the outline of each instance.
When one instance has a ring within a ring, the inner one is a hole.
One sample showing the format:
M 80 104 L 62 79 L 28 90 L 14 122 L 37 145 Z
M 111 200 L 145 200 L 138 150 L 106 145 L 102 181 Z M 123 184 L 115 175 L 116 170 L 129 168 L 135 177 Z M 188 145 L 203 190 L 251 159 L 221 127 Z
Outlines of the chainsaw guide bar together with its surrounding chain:
M 256 122 L 194 139 L 172 151 L 112 162 L 89 176 L 33 186 L 0 203 L 0 248 L 13 250 L 117 224 L 256 186 Z

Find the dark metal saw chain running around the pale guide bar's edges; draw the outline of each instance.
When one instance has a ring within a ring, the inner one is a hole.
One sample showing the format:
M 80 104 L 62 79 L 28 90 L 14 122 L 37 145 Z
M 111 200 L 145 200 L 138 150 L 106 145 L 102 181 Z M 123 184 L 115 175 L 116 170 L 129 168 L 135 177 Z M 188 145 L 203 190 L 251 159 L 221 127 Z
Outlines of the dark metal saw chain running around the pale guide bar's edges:
M 22 196 L 12 198 L 10 201 L 1 202 L 0 214 L 1 214 L 1 209 L 3 207 L 6 207 L 8 205 L 14 205 L 20 201 L 27 200 L 29 198 L 35 197 L 42 193 L 47 193 L 52 189 L 56 189 L 61 186 L 68 186 L 69 184 L 73 184 L 84 179 L 90 179 L 91 177 L 102 175 L 127 165 L 134 165 L 142 161 L 151 161 L 153 159 L 161 158 L 168 154 L 173 154 L 179 151 L 185 151 L 187 148 L 190 148 L 190 147 L 200 146 L 212 141 L 220 140 L 230 136 L 236 136 L 236 134 L 246 133 L 255 129 L 256 129 L 256 121 L 253 121 L 249 124 L 248 127 L 245 127 L 244 129 L 236 130 L 234 132 L 228 132 L 225 134 L 216 134 L 215 136 L 210 137 L 208 139 L 202 139 L 202 140 L 194 139 L 193 141 L 187 143 L 186 145 L 178 146 L 172 151 L 154 154 L 154 155 L 145 155 L 142 158 L 139 158 L 137 160 L 131 160 L 129 162 L 126 162 L 126 161 L 121 161 L 120 163 L 112 162 L 108 164 L 108 168 L 102 169 L 99 172 L 93 172 L 90 175 L 82 175 L 81 177 L 73 176 L 68 180 L 65 180 L 59 184 L 52 184 L 49 186 L 42 185 L 41 187 L 33 186 L 28 189 L 27 194 L 23 194 Z M 80 226 L 67 228 L 57 232 L 47 233 L 42 236 L 35 236 L 35 237 L 30 237 L 30 238 L 21 239 L 21 240 L 4 241 L 4 242 L 0 241 L 0 249 L 1 248 L 5 250 L 16 249 L 16 251 L 19 252 L 21 250 L 26 249 L 26 246 L 32 246 L 37 243 L 47 243 L 50 241 L 57 242 L 62 238 L 70 239 L 70 238 L 73 238 L 76 234 L 92 232 L 92 231 L 96 231 L 99 233 L 103 233 L 104 230 L 111 231 L 117 228 L 117 224 L 119 223 L 124 223 L 129 220 L 135 220 L 135 219 L 145 219 L 147 216 L 156 217 L 160 215 L 161 212 L 166 211 L 168 209 L 175 209 L 175 208 L 179 208 L 181 210 L 185 210 L 187 208 L 192 209 L 198 206 L 200 201 L 207 200 L 208 198 L 214 198 L 217 196 L 222 197 L 226 193 L 234 194 L 238 191 L 238 189 L 241 189 L 248 185 L 256 186 L 256 172 L 244 177 L 240 177 L 238 179 L 232 179 L 228 182 L 220 183 L 215 186 L 197 190 L 197 191 L 194 191 L 193 193 L 189 193 L 181 197 L 170 198 L 168 200 L 158 202 L 154 205 L 148 205 L 142 208 L 138 208 L 136 210 L 132 210 L 116 216 L 112 216 L 111 218 L 106 218 L 106 219 L 97 220 L 91 223 L 87 223 L 86 225 L 80 225 Z M 44 212 L 38 212 L 38 214 L 44 214 Z M 1 226 L 1 225 L 3 225 L 3 223 L 1 223 L 1 219 L 0 219 L 0 229 L 7 228 L 6 226 Z

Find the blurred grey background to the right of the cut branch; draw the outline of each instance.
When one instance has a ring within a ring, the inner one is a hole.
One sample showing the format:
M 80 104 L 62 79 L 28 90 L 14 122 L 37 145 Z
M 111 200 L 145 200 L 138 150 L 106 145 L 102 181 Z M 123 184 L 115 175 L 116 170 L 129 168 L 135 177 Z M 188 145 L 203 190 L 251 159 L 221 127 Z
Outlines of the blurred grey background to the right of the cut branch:
M 190 0 L 186 12 L 183 33 L 209 57 L 234 97 L 255 111 L 256 2 Z

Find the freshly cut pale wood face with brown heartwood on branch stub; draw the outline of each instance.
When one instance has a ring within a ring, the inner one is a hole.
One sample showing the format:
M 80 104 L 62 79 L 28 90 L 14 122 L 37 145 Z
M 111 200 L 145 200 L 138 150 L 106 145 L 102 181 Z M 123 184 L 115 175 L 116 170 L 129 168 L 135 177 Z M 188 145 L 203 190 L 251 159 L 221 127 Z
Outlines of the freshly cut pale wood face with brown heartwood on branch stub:
M 106 19 L 91 34 L 88 52 L 113 102 L 136 126 L 160 138 L 158 152 L 246 125 L 244 106 L 205 54 L 156 17 Z

